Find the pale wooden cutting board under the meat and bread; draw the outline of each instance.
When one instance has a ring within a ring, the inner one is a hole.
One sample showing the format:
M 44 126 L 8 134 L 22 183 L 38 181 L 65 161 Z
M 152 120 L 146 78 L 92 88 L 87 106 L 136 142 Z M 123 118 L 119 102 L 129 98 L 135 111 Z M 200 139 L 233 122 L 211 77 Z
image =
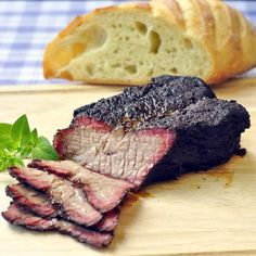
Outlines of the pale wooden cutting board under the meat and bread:
M 26 113 L 31 127 L 52 139 L 73 110 L 110 97 L 121 87 L 24 86 L 0 88 L 0 121 Z M 124 206 L 113 243 L 97 251 L 56 233 L 36 233 L 0 218 L 0 255 L 256 255 L 256 79 L 214 87 L 222 99 L 246 106 L 252 128 L 242 137 L 244 157 L 233 156 L 208 172 L 146 187 Z M 0 210 L 9 205 L 0 174 Z

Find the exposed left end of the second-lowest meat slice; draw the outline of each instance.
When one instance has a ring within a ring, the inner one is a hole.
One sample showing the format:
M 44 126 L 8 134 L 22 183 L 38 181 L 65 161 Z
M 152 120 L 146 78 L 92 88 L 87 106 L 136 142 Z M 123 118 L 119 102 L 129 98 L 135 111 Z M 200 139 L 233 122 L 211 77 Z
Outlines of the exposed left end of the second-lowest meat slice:
M 5 191 L 16 203 L 28 207 L 41 217 L 53 218 L 57 216 L 57 209 L 51 204 L 49 196 L 39 191 L 22 183 L 10 184 Z

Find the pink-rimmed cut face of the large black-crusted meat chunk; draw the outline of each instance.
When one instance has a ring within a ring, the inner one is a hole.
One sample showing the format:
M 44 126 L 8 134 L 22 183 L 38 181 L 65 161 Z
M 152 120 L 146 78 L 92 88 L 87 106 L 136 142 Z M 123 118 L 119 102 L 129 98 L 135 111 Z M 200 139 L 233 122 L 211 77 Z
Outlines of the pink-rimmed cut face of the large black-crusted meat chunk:
M 125 132 L 121 128 L 99 130 L 99 127 L 100 123 L 80 117 L 75 128 L 56 135 L 54 145 L 65 158 L 135 187 L 141 185 L 175 140 L 175 133 L 166 129 Z

